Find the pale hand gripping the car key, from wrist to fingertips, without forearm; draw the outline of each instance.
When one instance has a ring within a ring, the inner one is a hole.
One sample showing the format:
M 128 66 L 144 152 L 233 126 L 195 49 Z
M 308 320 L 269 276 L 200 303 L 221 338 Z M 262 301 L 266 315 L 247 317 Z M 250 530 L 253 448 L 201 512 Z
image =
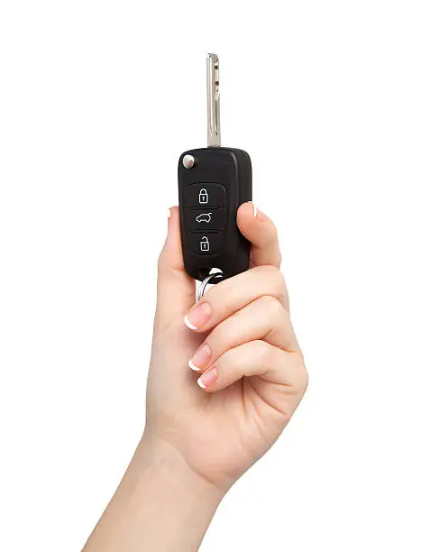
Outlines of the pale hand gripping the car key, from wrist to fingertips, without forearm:
M 195 474 L 226 492 L 288 424 L 306 391 L 306 368 L 270 218 L 254 216 L 251 203 L 240 207 L 237 224 L 252 243 L 252 268 L 218 283 L 193 306 L 178 208 L 170 212 L 144 438 L 169 444 Z

